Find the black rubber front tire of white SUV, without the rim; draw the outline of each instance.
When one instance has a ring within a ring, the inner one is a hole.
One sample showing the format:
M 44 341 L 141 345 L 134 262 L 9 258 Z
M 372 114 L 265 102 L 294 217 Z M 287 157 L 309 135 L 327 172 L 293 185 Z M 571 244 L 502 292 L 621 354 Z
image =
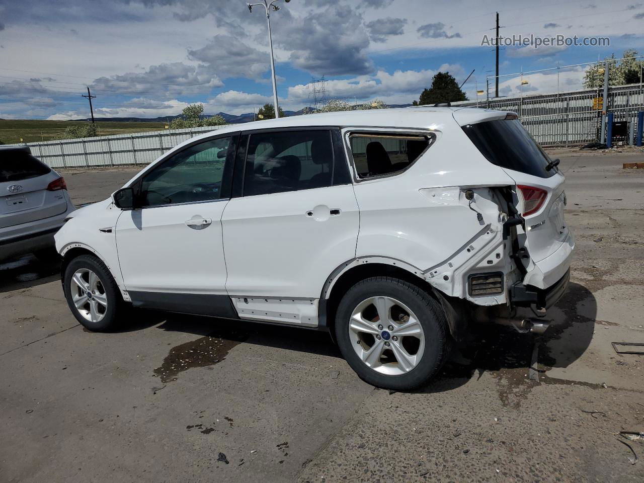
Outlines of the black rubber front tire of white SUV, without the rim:
M 102 289 L 104 289 L 108 306 L 106 307 L 104 314 L 102 314 L 102 319 L 100 319 L 100 321 L 92 322 L 83 317 L 73 302 L 71 294 L 71 278 L 77 270 L 81 269 L 88 269 L 94 272 L 100 280 Z M 99 258 L 86 254 L 71 260 L 65 269 L 63 289 L 67 305 L 70 307 L 71 313 L 83 327 L 91 330 L 92 332 L 111 332 L 118 328 L 119 321 L 124 316 L 126 304 L 120 294 L 116 281 L 109 272 L 108 267 L 106 267 Z

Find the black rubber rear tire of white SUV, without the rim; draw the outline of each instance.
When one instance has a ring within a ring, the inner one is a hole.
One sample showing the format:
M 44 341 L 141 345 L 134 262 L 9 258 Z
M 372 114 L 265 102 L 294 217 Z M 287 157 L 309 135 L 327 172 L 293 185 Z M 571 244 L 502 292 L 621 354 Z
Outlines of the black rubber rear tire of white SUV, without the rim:
M 421 323 L 424 352 L 409 372 L 381 374 L 367 366 L 354 350 L 349 334 L 352 313 L 359 303 L 375 296 L 390 297 L 404 303 Z M 372 277 L 355 284 L 339 303 L 335 328 L 340 351 L 357 375 L 366 383 L 396 391 L 413 390 L 428 383 L 439 372 L 451 348 L 450 330 L 440 303 L 416 285 L 398 278 Z

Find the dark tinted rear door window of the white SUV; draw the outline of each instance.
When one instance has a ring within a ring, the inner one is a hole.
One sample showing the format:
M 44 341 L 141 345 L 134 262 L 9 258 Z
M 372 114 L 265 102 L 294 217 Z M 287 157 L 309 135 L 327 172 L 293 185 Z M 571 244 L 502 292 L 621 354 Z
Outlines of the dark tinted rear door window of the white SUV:
M 253 134 L 246 155 L 243 194 L 330 186 L 333 160 L 330 131 Z

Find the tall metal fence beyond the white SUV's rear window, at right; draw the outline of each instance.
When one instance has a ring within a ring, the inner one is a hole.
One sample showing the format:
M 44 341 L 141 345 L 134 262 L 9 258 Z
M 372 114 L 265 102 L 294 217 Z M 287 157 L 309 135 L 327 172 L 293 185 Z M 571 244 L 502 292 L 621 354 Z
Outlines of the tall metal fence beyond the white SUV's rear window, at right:
M 599 140 L 601 129 L 601 89 L 560 92 L 522 97 L 453 102 L 452 106 L 515 111 L 526 129 L 542 146 L 575 146 Z M 615 121 L 637 124 L 644 109 L 641 84 L 609 88 L 608 109 Z

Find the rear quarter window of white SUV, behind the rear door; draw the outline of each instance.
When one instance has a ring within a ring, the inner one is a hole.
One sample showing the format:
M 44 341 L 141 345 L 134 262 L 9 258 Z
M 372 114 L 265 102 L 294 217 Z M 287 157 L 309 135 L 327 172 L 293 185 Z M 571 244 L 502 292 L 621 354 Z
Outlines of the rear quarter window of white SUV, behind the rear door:
M 417 160 L 431 144 L 424 136 L 352 134 L 354 166 L 360 178 L 391 175 Z

